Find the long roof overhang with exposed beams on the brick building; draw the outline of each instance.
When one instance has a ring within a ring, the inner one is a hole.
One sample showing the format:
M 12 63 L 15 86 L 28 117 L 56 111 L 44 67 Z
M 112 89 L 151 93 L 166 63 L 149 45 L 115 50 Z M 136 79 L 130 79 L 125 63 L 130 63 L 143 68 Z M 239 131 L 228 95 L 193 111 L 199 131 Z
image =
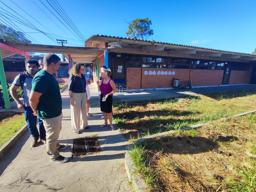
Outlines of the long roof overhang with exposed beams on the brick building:
M 100 43 L 107 42 L 107 50 L 119 53 L 133 53 L 143 55 L 205 58 L 217 60 L 233 60 L 250 62 L 256 60 L 256 55 L 238 53 L 224 50 L 207 49 L 188 45 L 172 44 L 165 42 L 144 41 L 123 37 L 93 35 L 85 41 L 85 46 L 98 47 Z

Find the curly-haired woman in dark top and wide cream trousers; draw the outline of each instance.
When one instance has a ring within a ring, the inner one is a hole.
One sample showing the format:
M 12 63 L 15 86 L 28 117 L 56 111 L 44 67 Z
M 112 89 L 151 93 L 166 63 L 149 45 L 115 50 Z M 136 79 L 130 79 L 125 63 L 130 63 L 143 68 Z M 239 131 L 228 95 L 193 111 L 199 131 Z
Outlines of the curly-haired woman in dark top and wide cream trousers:
M 76 63 L 69 72 L 68 95 L 70 97 L 72 131 L 80 134 L 80 129 L 89 129 L 86 115 L 85 65 Z

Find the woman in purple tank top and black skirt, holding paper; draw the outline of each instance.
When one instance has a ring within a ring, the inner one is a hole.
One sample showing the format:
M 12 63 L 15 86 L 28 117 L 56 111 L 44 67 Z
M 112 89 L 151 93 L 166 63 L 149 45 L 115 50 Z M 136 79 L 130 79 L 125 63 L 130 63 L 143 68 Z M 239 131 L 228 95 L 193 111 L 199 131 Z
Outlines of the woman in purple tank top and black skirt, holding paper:
M 100 127 L 105 127 L 109 124 L 112 130 L 115 130 L 115 127 L 112 125 L 113 116 L 112 116 L 112 103 L 113 103 L 113 94 L 116 93 L 116 84 L 112 79 L 110 79 L 111 71 L 110 69 L 101 68 L 102 81 L 97 81 L 98 89 L 101 91 L 100 94 L 100 111 L 103 112 L 105 123 Z M 104 97 L 104 98 L 103 98 Z M 105 100 L 106 98 L 106 100 Z

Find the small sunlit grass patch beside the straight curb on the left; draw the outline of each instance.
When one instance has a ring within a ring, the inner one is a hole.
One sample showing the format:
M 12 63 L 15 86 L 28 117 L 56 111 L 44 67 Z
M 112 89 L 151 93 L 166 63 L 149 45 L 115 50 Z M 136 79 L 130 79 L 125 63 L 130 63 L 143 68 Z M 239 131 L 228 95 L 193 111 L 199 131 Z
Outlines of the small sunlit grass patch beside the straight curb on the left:
M 0 147 L 8 141 L 20 127 L 25 125 L 25 123 L 26 120 L 23 113 L 2 120 L 0 122 Z

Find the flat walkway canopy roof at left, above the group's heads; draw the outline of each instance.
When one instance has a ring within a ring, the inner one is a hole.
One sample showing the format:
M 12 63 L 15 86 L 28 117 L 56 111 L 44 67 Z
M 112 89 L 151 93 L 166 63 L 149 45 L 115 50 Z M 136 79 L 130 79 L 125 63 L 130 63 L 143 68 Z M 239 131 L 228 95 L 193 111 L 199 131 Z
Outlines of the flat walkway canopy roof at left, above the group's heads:
M 3 44 L 12 46 L 16 49 L 27 52 L 38 53 L 60 53 L 68 58 L 68 55 L 74 62 L 92 62 L 97 55 L 99 55 L 106 48 L 92 48 L 92 47 L 68 47 L 68 46 L 55 46 L 55 45 L 39 45 L 29 43 L 16 43 L 5 42 Z M 10 56 L 10 55 L 8 55 Z M 7 57 L 8 57 L 7 56 Z

